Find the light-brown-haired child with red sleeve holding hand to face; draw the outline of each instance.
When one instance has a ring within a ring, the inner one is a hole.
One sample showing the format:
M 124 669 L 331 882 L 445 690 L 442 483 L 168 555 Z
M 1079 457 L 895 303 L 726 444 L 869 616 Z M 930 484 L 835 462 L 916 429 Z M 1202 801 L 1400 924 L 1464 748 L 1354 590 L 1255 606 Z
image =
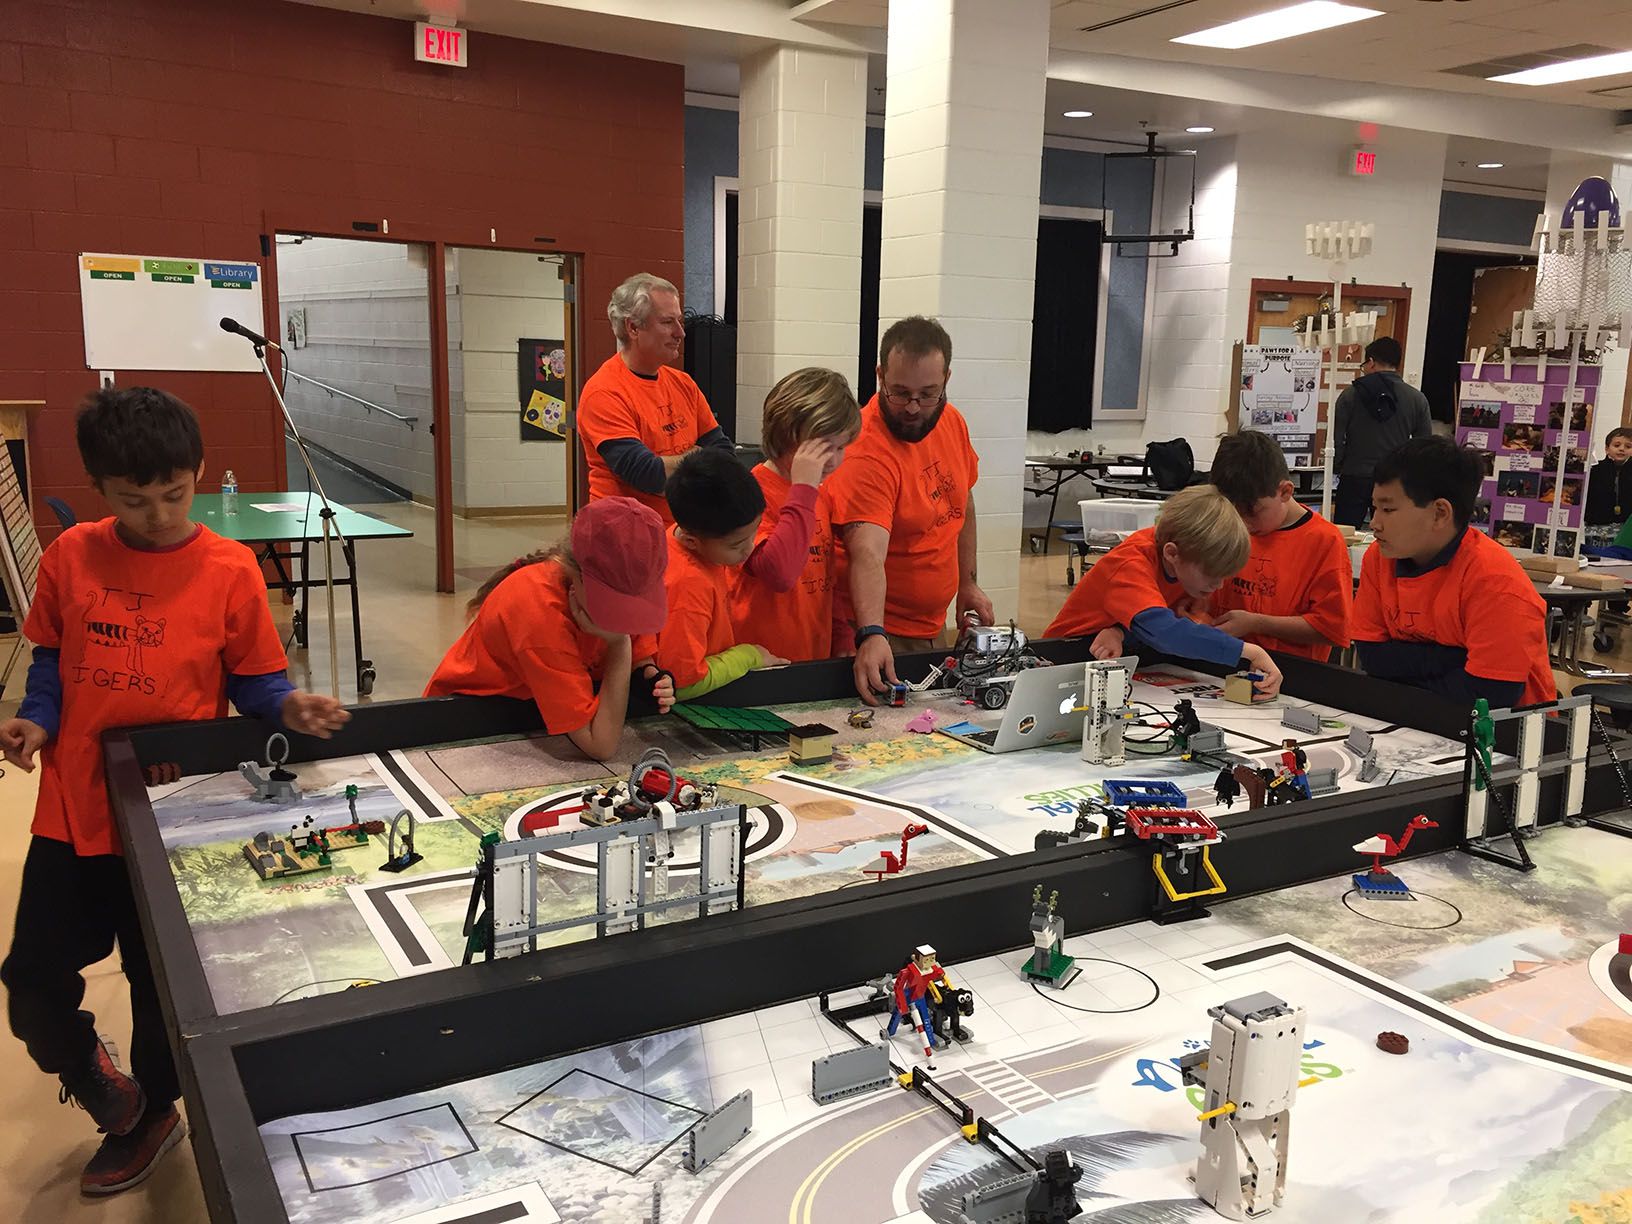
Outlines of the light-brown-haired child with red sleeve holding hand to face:
M 862 413 L 842 374 L 795 370 L 765 397 L 765 462 L 754 480 L 765 494 L 754 552 L 731 584 L 731 627 L 793 663 L 826 659 L 832 648 L 837 557 L 832 501 L 821 481 L 862 431 Z

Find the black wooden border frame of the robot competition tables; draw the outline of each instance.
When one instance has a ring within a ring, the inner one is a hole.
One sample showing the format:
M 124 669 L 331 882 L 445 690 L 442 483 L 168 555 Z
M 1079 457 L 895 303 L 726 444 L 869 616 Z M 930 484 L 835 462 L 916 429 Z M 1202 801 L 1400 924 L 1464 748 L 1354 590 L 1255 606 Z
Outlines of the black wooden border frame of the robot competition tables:
M 1036 645 L 1056 663 L 1087 653 L 1084 641 Z M 898 672 L 917 679 L 938 658 L 904 656 Z M 1146 661 L 1160 663 L 1170 661 Z M 1449 738 L 1464 733 L 1464 710 L 1420 690 L 1299 658 L 1279 663 L 1294 695 L 1319 695 L 1356 715 Z M 839 698 L 849 685 L 850 663 L 834 659 L 752 672 L 705 700 Z M 331 741 L 289 738 L 290 759 L 299 762 L 534 730 L 539 716 L 530 703 L 449 697 L 359 708 L 346 734 Z M 390 1100 L 863 981 L 898 956 L 902 930 L 934 930 L 953 961 L 1004 951 L 1023 942 L 1035 885 L 1059 891 L 1061 916 L 1074 934 L 1149 916 L 1149 858 L 1108 839 L 219 1015 L 142 765 L 173 761 L 183 774 L 230 769 L 255 757 L 264 734 L 256 721 L 225 718 L 103 736 L 109 798 L 181 1071 L 204 1198 L 217 1224 L 286 1224 L 258 1129 L 274 1118 Z M 1511 751 L 1498 734 L 1503 746 Z M 1549 754 L 1562 747 L 1563 728 L 1549 726 Z M 1415 839 L 1408 857 L 1444 850 L 1459 840 L 1464 777 L 1235 811 L 1219 821 L 1227 839 L 1214 847 L 1214 863 L 1232 896 L 1286 888 L 1353 870 L 1356 840 L 1418 813 L 1439 827 Z M 1560 785 L 1560 775 L 1542 778 L 1544 813 L 1559 811 Z M 1606 813 L 1621 803 L 1609 752 L 1594 746 L 1585 809 Z M 628 1007 L 632 981 L 641 982 L 640 1007 Z M 517 1015 L 548 1023 L 516 1025 Z M 501 1044 L 491 1040 L 494 1033 L 506 1033 Z

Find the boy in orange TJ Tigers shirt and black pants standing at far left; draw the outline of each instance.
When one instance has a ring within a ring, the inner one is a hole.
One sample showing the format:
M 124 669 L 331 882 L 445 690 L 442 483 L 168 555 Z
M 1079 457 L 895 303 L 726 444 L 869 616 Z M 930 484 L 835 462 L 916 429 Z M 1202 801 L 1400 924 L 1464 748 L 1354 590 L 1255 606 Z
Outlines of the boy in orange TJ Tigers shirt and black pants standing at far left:
M 349 715 L 300 692 L 273 628 L 255 553 L 189 519 L 204 473 L 197 418 L 152 387 L 101 390 L 75 423 L 80 459 L 113 517 L 59 535 L 39 561 L 23 635 L 34 643 L 5 759 L 41 759 L 11 951 L 0 966 L 11 1031 L 104 1133 L 85 1195 L 144 1180 L 186 1128 L 153 971 L 108 809 L 101 733 L 238 712 L 328 738 Z M 80 1009 L 80 971 L 119 945 L 131 982 L 131 1069 Z

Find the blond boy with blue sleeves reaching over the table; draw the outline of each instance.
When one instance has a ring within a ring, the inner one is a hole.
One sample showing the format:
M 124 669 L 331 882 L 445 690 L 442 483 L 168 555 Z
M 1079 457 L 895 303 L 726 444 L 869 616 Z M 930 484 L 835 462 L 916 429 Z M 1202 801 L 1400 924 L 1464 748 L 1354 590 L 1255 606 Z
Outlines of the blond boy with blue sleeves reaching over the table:
M 1191 620 L 1252 552 L 1247 526 L 1211 485 L 1180 490 L 1162 504 L 1154 527 L 1129 535 L 1095 561 L 1066 599 L 1044 636 L 1087 636 L 1093 658 L 1111 659 L 1141 643 L 1182 659 L 1206 659 L 1262 674 L 1262 697 L 1281 690 L 1281 669 L 1258 645 Z

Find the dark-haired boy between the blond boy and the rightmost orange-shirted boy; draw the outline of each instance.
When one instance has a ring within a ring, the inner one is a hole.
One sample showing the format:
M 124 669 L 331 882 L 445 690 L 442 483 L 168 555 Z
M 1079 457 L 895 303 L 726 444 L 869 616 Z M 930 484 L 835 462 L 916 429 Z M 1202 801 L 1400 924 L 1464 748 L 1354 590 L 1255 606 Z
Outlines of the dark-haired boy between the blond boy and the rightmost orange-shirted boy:
M 1213 625 L 1265 650 L 1325 661 L 1348 645 L 1355 570 L 1343 532 L 1293 498 L 1281 444 L 1244 429 L 1219 439 L 1213 485 L 1252 535 L 1247 566 L 1213 592 Z

